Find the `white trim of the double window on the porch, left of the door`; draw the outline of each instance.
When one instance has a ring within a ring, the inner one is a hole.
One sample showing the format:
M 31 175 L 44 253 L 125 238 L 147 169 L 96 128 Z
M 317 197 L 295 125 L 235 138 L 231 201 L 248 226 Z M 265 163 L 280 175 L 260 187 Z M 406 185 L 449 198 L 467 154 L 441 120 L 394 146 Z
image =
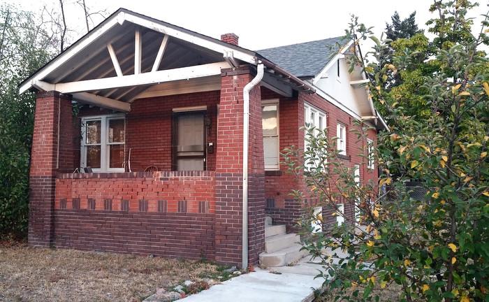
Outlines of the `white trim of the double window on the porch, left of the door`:
M 124 143 L 109 143 L 108 142 L 108 135 L 107 135 L 107 130 L 108 130 L 108 121 L 109 120 L 117 120 L 117 119 L 124 119 Z M 110 168 L 109 162 L 109 156 L 110 153 L 108 152 L 107 145 L 124 145 L 124 154 L 126 153 L 126 118 L 124 114 L 112 114 L 112 115 L 91 115 L 87 117 L 82 117 L 82 122 L 81 122 L 81 131 L 82 131 L 82 142 L 81 142 L 81 152 L 80 152 L 80 166 L 81 167 L 86 167 L 87 166 L 87 144 L 86 144 L 86 130 L 85 130 L 85 124 L 86 122 L 89 121 L 95 121 L 99 120 L 101 121 L 100 123 L 100 129 L 101 129 L 101 134 L 100 134 L 100 168 L 92 168 L 92 171 L 94 172 L 124 172 L 125 168 Z

